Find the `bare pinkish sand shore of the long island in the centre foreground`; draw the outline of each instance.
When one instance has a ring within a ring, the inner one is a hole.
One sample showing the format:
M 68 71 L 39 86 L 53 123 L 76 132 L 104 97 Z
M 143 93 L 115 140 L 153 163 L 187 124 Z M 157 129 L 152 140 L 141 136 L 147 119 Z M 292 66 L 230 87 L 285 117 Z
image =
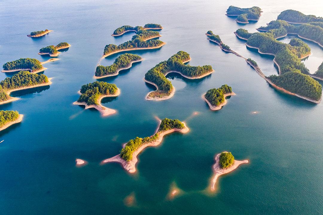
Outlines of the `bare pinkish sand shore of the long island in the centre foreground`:
M 159 120 L 159 126 L 160 126 L 160 123 L 161 123 L 161 120 Z M 182 123 L 184 124 L 184 128 L 182 128 L 182 129 L 173 128 L 171 130 L 167 130 L 167 131 L 161 132 L 160 134 L 158 134 L 158 139 L 157 140 L 155 140 L 153 142 L 150 142 L 150 143 L 142 144 L 136 151 L 134 151 L 132 153 L 132 159 L 129 162 L 127 162 L 124 159 L 122 159 L 120 157 L 120 154 L 119 154 L 119 155 L 116 155 L 116 156 L 114 156 L 112 158 L 108 158 L 108 159 L 102 160 L 100 164 L 103 165 L 103 164 L 110 163 L 110 162 L 117 162 L 117 163 L 120 163 L 121 166 L 125 170 L 127 170 L 128 172 L 134 173 L 134 172 L 136 172 L 136 163 L 138 162 L 137 156 L 138 156 L 138 154 L 141 153 L 141 151 L 144 148 L 149 147 L 149 146 L 158 146 L 161 143 L 163 137 L 165 135 L 167 135 L 167 134 L 172 133 L 172 132 L 187 133 L 189 131 L 189 128 L 186 126 L 186 124 L 184 122 L 182 122 Z M 157 131 L 159 129 L 159 126 L 157 128 Z

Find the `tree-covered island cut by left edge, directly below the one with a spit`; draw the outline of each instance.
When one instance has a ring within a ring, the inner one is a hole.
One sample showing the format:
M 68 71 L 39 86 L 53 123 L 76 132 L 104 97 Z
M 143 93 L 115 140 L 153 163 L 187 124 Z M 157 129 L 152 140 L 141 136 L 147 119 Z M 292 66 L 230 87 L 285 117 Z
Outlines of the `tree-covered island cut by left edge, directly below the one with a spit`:
M 20 71 L 12 77 L 7 77 L 0 82 L 0 105 L 18 100 L 9 96 L 11 92 L 47 86 L 52 83 L 50 80 L 51 78 L 43 74 L 38 75 L 28 71 Z

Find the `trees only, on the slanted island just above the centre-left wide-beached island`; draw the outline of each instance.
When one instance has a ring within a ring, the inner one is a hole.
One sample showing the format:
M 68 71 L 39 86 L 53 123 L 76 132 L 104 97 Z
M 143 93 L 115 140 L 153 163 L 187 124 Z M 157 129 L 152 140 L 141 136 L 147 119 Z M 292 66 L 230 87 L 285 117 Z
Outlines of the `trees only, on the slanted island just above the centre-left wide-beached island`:
M 110 66 L 104 67 L 104 66 L 97 66 L 97 69 L 95 71 L 95 76 L 105 76 L 114 74 L 119 70 L 120 68 L 125 68 L 130 65 L 132 61 L 140 60 L 141 56 L 139 55 L 133 55 L 133 54 L 122 54 L 119 57 L 116 58 L 114 63 Z

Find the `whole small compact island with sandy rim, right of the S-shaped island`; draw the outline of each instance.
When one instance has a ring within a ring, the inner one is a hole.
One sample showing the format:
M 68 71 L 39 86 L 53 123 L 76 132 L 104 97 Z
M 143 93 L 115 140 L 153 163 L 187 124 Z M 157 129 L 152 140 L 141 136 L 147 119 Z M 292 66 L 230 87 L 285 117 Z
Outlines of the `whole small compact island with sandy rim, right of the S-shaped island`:
M 209 89 L 202 95 L 202 98 L 207 102 L 211 110 L 220 110 L 226 105 L 225 97 L 234 95 L 235 93 L 232 92 L 232 87 L 225 84 L 220 88 Z

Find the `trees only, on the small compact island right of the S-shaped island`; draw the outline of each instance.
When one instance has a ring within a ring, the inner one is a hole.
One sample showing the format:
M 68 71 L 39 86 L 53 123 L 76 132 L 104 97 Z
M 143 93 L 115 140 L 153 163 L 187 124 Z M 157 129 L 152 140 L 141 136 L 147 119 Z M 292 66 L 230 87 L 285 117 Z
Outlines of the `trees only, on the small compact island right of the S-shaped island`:
M 209 89 L 205 94 L 205 98 L 211 103 L 211 105 L 219 106 L 220 104 L 224 103 L 224 94 L 227 93 L 232 93 L 232 87 L 225 84 L 220 88 Z

